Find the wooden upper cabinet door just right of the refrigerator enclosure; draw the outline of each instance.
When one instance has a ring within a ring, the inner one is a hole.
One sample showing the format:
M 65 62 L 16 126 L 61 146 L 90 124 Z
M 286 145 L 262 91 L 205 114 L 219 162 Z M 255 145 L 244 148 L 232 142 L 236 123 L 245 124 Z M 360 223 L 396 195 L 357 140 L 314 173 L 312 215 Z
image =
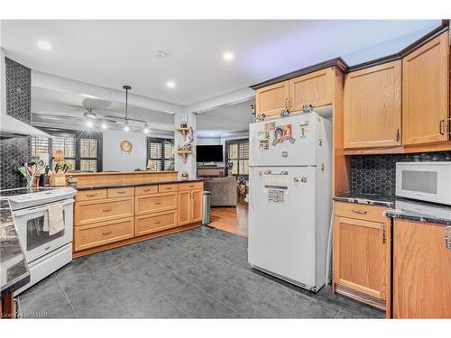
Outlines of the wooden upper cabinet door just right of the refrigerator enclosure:
M 344 121 L 345 148 L 400 145 L 400 60 L 348 74 Z

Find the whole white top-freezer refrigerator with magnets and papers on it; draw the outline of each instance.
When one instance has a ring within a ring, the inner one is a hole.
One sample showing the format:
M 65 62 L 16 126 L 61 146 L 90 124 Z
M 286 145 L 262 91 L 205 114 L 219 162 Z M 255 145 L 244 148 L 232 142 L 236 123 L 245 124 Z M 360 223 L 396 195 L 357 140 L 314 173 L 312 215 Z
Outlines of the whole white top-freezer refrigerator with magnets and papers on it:
M 317 113 L 252 123 L 249 263 L 318 292 L 332 211 L 332 123 Z

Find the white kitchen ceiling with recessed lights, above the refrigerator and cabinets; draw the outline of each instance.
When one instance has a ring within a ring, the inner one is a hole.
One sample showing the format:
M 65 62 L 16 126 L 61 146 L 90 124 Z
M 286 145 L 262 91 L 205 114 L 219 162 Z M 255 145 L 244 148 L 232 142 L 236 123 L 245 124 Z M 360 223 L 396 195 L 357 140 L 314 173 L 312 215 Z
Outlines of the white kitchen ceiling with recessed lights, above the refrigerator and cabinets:
M 343 56 L 360 63 L 408 45 L 440 21 L 2 21 L 2 47 L 24 65 L 179 105 Z M 406 39 L 401 39 L 401 37 Z M 51 50 L 37 47 L 43 40 Z M 382 44 L 386 41 L 386 48 Z M 372 51 L 372 46 L 380 48 Z M 155 59 L 155 50 L 169 57 Z M 222 54 L 230 50 L 235 60 Z M 359 50 L 365 50 L 359 54 Z M 166 87 L 174 80 L 177 87 Z

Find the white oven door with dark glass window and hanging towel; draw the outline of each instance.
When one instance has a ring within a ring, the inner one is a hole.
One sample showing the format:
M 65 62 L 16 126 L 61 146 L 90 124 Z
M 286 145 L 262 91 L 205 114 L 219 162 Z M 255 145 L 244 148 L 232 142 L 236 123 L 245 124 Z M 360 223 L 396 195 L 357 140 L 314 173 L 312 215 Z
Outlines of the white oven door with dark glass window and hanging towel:
M 34 206 L 13 212 L 14 222 L 23 243 L 25 258 L 28 262 L 37 260 L 48 252 L 72 242 L 73 203 L 73 198 L 70 198 L 58 203 Z M 61 230 L 60 233 L 49 235 L 49 232 L 42 230 L 44 215 L 48 212 L 50 206 L 57 204 L 63 206 L 64 230 Z

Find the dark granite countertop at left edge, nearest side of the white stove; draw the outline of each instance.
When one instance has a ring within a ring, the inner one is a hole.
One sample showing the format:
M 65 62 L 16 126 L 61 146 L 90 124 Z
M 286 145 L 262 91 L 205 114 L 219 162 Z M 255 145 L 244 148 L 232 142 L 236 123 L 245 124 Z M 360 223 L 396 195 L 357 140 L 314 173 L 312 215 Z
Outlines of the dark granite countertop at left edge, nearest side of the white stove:
M 0 199 L 0 297 L 22 288 L 30 281 L 30 271 L 15 229 L 7 199 Z

